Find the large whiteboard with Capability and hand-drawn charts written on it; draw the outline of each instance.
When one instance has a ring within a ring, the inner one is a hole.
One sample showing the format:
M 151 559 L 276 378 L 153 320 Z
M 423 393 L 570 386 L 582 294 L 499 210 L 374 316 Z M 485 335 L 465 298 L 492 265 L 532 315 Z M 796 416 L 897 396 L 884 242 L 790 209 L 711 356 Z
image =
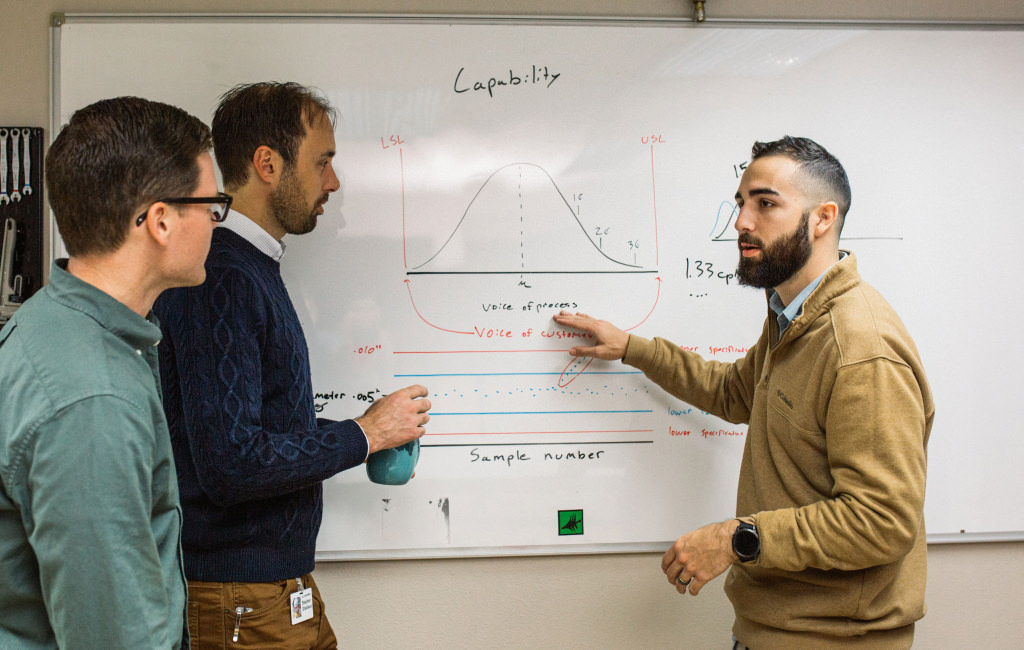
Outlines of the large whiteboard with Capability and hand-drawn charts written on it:
M 60 123 L 120 94 L 209 120 L 270 79 L 338 107 L 342 189 L 283 262 L 316 407 L 434 406 L 410 484 L 325 483 L 318 557 L 662 550 L 731 516 L 744 427 L 573 361 L 551 315 L 742 354 L 766 306 L 732 197 L 783 134 L 847 168 L 843 248 L 921 350 L 930 538 L 1024 536 L 993 499 L 1024 488 L 1020 31 L 72 16 L 55 42 Z

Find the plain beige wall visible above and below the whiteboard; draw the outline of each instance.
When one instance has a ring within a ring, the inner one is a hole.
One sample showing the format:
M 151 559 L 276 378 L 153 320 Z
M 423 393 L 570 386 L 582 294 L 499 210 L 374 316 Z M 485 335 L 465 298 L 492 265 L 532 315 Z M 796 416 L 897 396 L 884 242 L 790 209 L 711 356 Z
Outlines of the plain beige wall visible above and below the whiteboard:
M 709 0 L 715 17 L 1024 21 L 1019 0 Z M 278 12 L 269 0 L 0 0 L 0 122 L 48 126 L 49 15 Z M 470 0 L 305 0 L 290 12 L 494 13 Z M 689 15 L 689 0 L 512 0 L 502 14 Z M 941 406 L 941 405 L 940 405 Z M 728 513 L 723 513 L 723 518 Z M 680 531 L 682 534 L 685 531 Z M 335 629 L 350 647 L 726 647 L 731 607 L 716 580 L 694 599 L 657 554 L 323 563 Z M 929 614 L 918 647 L 1012 645 L 1024 635 L 1024 544 L 930 549 Z

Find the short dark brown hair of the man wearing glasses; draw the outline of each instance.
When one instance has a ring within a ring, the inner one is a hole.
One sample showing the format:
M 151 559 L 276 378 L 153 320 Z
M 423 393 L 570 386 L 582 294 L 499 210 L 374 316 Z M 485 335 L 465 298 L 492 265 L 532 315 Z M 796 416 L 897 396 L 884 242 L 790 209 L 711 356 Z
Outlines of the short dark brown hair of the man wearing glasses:
M 140 97 L 79 109 L 46 153 L 46 189 L 73 256 L 112 253 L 141 206 L 188 196 L 210 129 L 177 106 Z

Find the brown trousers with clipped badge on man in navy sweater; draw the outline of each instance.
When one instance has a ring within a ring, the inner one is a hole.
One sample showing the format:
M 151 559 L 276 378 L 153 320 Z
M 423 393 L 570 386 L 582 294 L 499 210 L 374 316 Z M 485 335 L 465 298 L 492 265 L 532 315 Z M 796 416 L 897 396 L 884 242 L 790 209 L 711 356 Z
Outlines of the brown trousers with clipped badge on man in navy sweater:
M 188 580 L 188 634 L 193 650 L 328 650 L 338 647 L 313 576 L 313 617 L 292 624 L 290 596 L 298 581 L 204 582 Z M 236 640 L 236 630 L 238 640 Z

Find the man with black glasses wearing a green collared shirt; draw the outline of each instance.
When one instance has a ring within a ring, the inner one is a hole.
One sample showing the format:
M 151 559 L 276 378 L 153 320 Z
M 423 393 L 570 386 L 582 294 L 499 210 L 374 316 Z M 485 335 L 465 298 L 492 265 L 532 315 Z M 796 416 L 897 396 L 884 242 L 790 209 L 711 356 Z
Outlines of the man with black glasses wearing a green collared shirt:
M 211 146 L 183 111 L 121 97 L 47 154 L 70 259 L 0 331 L 0 648 L 187 647 L 151 307 L 205 277 L 230 204 Z

